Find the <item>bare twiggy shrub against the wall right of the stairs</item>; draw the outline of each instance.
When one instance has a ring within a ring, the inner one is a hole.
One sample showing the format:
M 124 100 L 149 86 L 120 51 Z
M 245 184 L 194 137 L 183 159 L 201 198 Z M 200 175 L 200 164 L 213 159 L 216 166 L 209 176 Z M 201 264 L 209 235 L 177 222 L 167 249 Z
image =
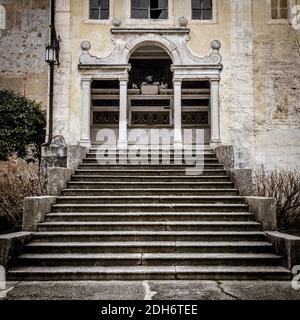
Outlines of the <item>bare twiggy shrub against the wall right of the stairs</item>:
M 300 174 L 297 171 L 276 169 L 266 172 L 264 167 L 255 173 L 255 193 L 276 200 L 277 221 L 281 231 L 300 222 Z

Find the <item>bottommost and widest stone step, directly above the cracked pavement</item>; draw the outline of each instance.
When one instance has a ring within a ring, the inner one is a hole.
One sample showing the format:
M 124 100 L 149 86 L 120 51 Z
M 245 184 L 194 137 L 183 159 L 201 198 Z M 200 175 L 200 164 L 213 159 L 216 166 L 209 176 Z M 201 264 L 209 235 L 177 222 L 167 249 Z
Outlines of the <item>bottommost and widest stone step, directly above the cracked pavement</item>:
M 109 280 L 290 280 L 283 267 L 138 266 L 138 267 L 18 267 L 9 281 L 109 281 Z

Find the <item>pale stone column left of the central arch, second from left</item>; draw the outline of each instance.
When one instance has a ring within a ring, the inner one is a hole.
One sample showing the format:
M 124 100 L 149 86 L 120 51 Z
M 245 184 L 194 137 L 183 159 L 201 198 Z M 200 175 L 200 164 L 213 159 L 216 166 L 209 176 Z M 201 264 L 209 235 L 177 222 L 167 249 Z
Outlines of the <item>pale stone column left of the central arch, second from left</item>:
M 120 80 L 119 149 L 127 149 L 127 83 L 128 79 Z

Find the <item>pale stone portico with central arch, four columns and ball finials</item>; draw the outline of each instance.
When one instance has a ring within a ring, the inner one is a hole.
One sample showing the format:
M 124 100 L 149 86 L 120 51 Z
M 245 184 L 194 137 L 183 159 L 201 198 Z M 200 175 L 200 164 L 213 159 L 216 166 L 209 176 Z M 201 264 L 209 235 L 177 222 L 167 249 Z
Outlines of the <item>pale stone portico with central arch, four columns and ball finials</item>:
M 83 80 L 83 136 L 85 128 L 90 124 L 87 121 L 86 110 L 90 110 L 90 83 L 91 79 L 115 79 L 120 84 L 119 101 L 119 146 L 127 146 L 127 105 L 128 81 L 131 65 L 129 59 L 133 52 L 143 46 L 158 46 L 163 49 L 172 60 L 173 72 L 173 109 L 174 109 L 174 145 L 182 144 L 182 83 L 184 81 L 210 82 L 211 105 L 211 143 L 220 143 L 220 111 L 219 111 L 219 81 L 222 70 L 221 43 L 218 40 L 211 42 L 212 51 L 198 57 L 187 48 L 189 41 L 188 29 L 111 29 L 114 50 L 107 57 L 97 57 L 90 54 L 91 43 L 81 43 L 82 54 L 78 68 Z M 88 140 L 88 139 L 86 139 Z M 85 141 L 85 139 L 82 139 Z M 90 143 L 90 142 L 89 142 Z

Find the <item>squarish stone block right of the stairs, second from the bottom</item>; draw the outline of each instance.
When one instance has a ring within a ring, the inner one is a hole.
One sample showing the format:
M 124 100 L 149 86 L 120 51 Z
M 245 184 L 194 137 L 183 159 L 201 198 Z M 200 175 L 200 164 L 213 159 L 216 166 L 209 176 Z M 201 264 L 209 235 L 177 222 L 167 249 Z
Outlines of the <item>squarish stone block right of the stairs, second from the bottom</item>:
M 262 224 L 264 231 L 277 230 L 276 202 L 273 198 L 245 197 L 250 212 L 254 213 L 256 220 Z

